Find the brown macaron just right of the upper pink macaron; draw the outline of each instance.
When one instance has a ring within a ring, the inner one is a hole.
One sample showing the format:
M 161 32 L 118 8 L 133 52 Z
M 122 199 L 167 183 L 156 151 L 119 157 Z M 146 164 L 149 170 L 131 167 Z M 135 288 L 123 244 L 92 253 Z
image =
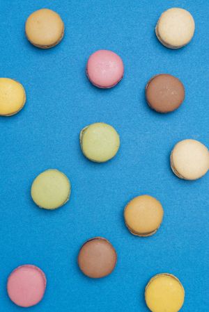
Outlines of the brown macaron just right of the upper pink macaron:
M 158 113 L 170 113 L 185 99 L 183 83 L 170 74 L 158 74 L 146 85 L 146 101 Z

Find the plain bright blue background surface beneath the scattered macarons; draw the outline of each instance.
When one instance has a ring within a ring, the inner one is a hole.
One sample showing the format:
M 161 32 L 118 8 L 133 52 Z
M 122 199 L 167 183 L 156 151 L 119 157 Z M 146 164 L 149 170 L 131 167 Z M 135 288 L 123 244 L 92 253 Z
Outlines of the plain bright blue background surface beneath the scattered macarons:
M 196 22 L 192 42 L 166 49 L 155 38 L 160 14 L 179 6 Z M 24 35 L 26 18 L 39 8 L 60 13 L 65 37 L 49 50 L 33 47 Z M 8 274 L 33 263 L 47 275 L 45 297 L 30 311 L 146 312 L 144 288 L 154 274 L 171 272 L 185 287 L 182 311 L 209 309 L 209 174 L 183 181 L 171 172 L 169 154 L 179 140 L 209 146 L 208 0 L 1 0 L 0 75 L 17 79 L 26 106 L 1 117 L 0 311 L 14 312 L 6 293 Z M 123 58 L 125 76 L 111 90 L 93 87 L 85 75 L 88 56 L 110 49 Z M 183 81 L 183 106 L 155 113 L 144 99 L 151 76 L 169 73 Z M 88 161 L 79 131 L 107 122 L 121 136 L 121 149 L 108 163 Z M 68 204 L 45 211 L 33 204 L 30 188 L 43 170 L 68 175 Z M 164 207 L 155 236 L 139 238 L 123 222 L 125 204 L 150 194 Z M 114 272 L 88 279 L 77 268 L 77 253 L 94 236 L 109 239 L 118 252 Z

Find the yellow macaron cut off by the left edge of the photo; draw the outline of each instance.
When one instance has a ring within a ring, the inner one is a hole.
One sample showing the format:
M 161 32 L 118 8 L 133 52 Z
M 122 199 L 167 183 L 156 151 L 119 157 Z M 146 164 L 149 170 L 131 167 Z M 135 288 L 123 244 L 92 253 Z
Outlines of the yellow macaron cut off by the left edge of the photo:
M 12 116 L 22 110 L 26 102 L 26 94 L 21 83 L 0 78 L 0 115 Z

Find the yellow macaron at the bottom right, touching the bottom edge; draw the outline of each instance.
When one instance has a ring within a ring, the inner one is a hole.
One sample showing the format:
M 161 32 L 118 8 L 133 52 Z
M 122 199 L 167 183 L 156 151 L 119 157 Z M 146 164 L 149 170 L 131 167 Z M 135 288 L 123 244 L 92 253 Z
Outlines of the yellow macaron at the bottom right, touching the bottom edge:
M 157 274 L 150 279 L 145 290 L 145 300 L 152 312 L 178 312 L 183 306 L 185 290 L 172 274 Z

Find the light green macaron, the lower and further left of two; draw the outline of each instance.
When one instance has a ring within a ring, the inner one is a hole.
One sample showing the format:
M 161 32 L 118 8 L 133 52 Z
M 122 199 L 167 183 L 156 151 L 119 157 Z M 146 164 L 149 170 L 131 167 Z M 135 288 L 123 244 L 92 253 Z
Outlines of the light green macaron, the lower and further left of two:
M 70 181 L 59 170 L 46 170 L 33 181 L 31 197 L 40 208 L 59 208 L 70 198 Z

